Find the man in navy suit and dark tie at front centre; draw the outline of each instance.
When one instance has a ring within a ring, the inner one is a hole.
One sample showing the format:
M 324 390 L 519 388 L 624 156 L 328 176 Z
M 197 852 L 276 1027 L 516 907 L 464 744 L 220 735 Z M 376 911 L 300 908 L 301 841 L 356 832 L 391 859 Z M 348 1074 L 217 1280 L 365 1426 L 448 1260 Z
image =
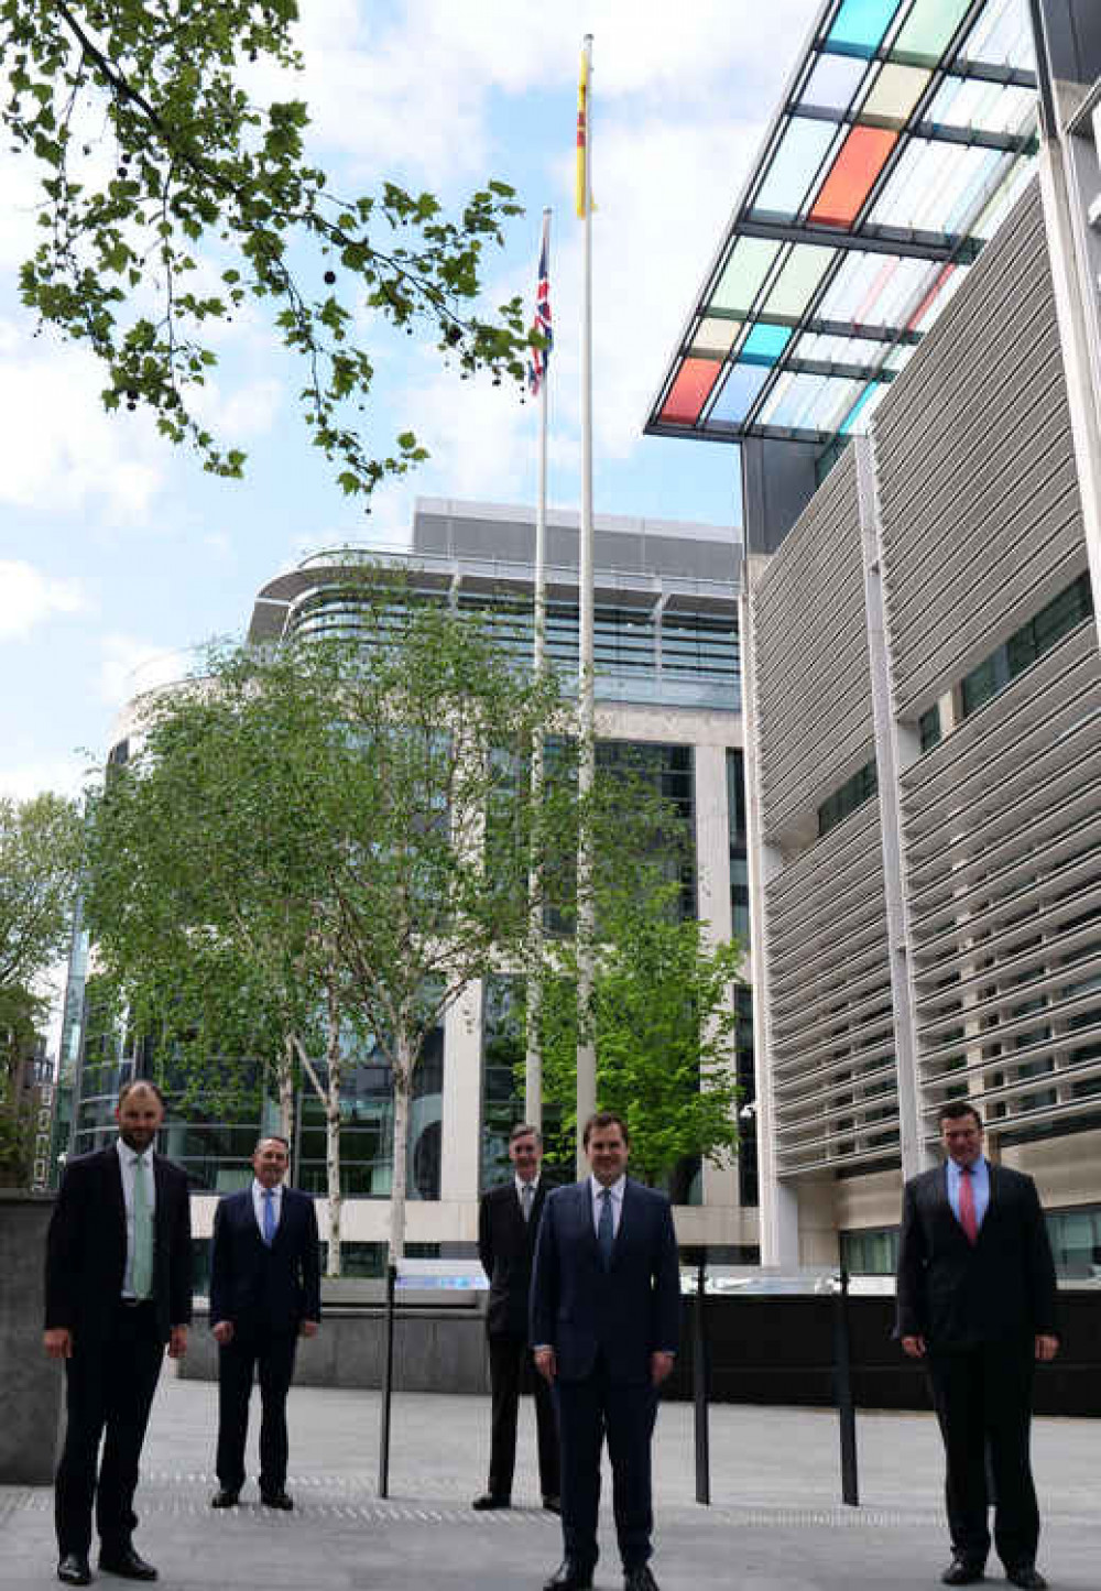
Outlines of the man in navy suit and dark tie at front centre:
M 679 1335 L 673 1212 L 663 1193 L 627 1179 L 622 1117 L 589 1117 L 582 1144 L 590 1176 L 547 1200 L 531 1279 L 535 1362 L 555 1387 L 562 1433 L 565 1554 L 544 1591 L 592 1586 L 605 1433 L 624 1588 L 657 1591 L 651 1437 Z

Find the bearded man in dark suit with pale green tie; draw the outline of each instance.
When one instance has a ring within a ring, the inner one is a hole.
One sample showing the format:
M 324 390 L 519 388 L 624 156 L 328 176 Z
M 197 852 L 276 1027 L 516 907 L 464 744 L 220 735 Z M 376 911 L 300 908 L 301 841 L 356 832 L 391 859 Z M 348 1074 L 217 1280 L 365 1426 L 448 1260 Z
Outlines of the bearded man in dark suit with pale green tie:
M 54 1518 L 57 1578 L 91 1581 L 92 1500 L 100 1569 L 156 1580 L 134 1550 L 134 1491 L 164 1344 L 188 1346 L 191 1216 L 188 1179 L 153 1153 L 164 1120 L 154 1083 L 119 1091 L 119 1138 L 65 1166 L 46 1243 L 46 1332 L 65 1362 L 65 1446 Z M 103 1457 L 97 1459 L 100 1438 Z

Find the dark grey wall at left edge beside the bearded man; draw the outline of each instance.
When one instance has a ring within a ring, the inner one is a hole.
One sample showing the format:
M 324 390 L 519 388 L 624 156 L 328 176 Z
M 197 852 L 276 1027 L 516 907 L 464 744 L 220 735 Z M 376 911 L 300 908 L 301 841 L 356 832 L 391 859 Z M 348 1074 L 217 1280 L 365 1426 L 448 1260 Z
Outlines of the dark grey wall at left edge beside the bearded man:
M 53 1196 L 0 1188 L 0 1484 L 48 1486 L 64 1373 L 41 1348 L 43 1254 Z

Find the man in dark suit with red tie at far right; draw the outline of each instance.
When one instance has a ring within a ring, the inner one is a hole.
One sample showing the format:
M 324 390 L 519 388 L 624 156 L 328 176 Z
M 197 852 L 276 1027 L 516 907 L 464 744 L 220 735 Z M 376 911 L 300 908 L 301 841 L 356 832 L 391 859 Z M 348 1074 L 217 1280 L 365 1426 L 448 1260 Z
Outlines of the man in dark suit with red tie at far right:
M 1042 1591 L 1028 1437 L 1036 1362 L 1058 1352 L 1052 1247 L 1036 1184 L 983 1158 L 972 1106 L 945 1104 L 940 1138 L 947 1165 L 904 1192 L 896 1330 L 928 1367 L 943 1438 L 953 1558 L 940 1578 L 983 1578 L 990 1456 L 1006 1578 Z

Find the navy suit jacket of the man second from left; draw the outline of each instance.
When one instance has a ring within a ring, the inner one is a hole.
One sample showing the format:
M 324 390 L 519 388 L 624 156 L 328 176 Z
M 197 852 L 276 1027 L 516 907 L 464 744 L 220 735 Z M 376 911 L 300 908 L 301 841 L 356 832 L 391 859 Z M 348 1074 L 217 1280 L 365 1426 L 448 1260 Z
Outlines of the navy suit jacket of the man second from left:
M 251 1185 L 228 1193 L 215 1211 L 210 1246 L 210 1324 L 296 1332 L 321 1319 L 317 1211 L 309 1193 L 283 1188 L 270 1249 L 259 1235 Z

